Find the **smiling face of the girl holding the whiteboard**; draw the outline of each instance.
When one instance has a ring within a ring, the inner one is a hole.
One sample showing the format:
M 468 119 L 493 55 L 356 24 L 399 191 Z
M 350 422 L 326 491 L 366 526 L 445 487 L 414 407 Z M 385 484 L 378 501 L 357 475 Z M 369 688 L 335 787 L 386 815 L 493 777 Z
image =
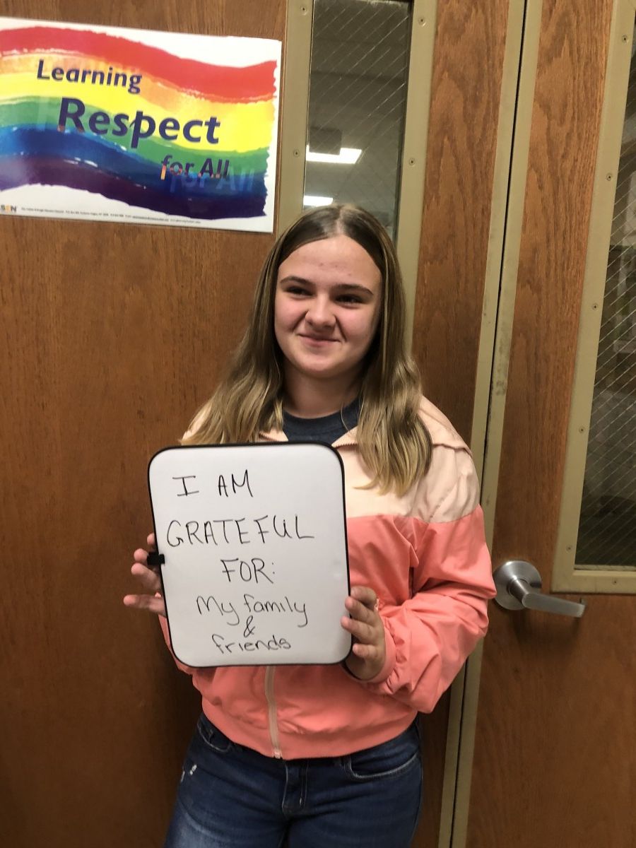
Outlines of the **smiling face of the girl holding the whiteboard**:
M 360 244 L 338 235 L 304 244 L 278 269 L 274 332 L 286 377 L 354 383 L 380 316 L 382 274 Z

